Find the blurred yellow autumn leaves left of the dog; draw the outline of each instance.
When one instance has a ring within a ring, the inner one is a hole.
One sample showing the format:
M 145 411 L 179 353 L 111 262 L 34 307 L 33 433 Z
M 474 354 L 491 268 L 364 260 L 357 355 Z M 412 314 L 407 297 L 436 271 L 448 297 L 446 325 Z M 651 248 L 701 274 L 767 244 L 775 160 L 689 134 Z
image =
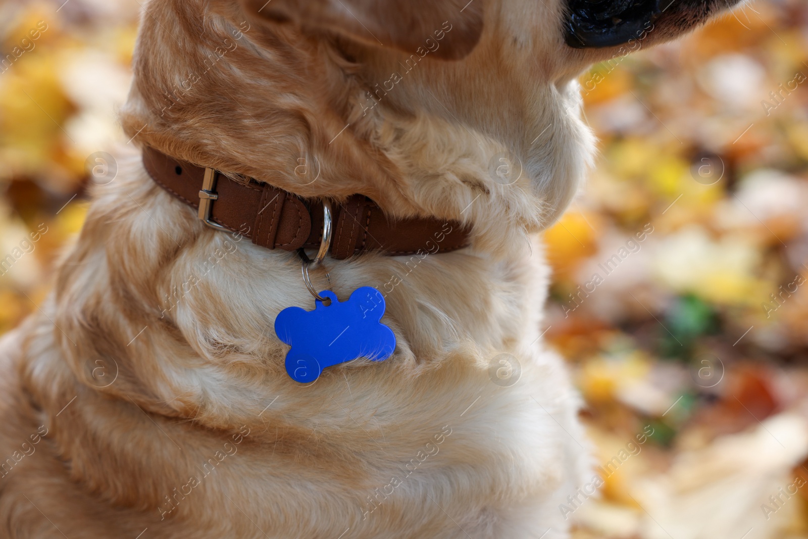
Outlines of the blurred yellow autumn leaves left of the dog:
M 137 4 L 60 6 L 0 5 L 0 331 L 36 309 L 57 251 L 81 228 L 86 157 L 122 137 L 115 112 Z

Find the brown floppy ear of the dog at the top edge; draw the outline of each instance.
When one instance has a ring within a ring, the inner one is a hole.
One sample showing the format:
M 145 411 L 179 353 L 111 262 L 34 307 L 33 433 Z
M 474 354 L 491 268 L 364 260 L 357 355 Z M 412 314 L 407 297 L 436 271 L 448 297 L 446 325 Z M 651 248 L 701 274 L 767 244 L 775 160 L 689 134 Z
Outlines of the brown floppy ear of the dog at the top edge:
M 465 57 L 482 33 L 484 0 L 241 0 L 245 9 L 276 23 L 333 32 L 364 44 L 431 57 Z M 427 40 L 429 40 L 427 42 Z M 436 40 L 440 46 L 432 49 Z

